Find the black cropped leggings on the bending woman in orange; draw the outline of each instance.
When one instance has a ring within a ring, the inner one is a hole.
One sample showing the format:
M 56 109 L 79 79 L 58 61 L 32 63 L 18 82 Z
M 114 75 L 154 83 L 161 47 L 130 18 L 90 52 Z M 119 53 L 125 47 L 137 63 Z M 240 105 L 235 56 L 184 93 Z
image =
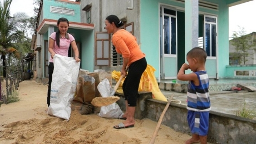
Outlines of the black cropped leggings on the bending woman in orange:
M 128 106 L 130 107 L 136 106 L 140 78 L 146 67 L 147 61 L 145 57 L 131 63 L 129 66 L 122 90 L 124 91 L 125 100 L 127 100 Z

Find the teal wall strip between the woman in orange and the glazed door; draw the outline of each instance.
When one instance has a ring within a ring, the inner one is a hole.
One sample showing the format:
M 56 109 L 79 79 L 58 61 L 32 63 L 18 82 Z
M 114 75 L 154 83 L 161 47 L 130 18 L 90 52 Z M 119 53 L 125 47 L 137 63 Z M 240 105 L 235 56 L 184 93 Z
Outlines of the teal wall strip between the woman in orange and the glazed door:
M 147 64 L 156 69 L 155 77 L 159 77 L 159 9 L 158 2 L 141 0 L 140 41 L 141 50 L 146 54 Z

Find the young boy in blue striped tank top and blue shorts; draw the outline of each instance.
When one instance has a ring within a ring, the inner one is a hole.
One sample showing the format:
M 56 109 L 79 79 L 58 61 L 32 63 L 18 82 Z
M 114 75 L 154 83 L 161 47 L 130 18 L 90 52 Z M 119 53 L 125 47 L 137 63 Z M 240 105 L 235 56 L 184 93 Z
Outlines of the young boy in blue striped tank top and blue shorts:
M 203 48 L 195 47 L 186 54 L 186 60 L 178 73 L 178 79 L 189 81 L 188 85 L 188 123 L 192 138 L 186 144 L 200 142 L 207 143 L 209 128 L 209 78 L 205 71 L 207 54 Z M 185 70 L 191 69 L 192 73 L 185 74 Z

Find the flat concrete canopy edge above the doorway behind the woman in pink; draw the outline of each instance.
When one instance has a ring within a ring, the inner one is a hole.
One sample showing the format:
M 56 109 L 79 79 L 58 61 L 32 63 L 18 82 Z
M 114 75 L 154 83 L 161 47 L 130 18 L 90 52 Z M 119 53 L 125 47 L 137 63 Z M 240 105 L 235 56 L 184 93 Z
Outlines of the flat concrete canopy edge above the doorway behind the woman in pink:
M 78 23 L 78 22 L 69 22 L 69 28 L 73 29 L 82 29 L 82 30 L 92 30 L 94 29 L 94 24 L 90 23 Z M 40 26 L 37 28 L 38 34 L 43 34 L 48 31 L 49 26 L 57 26 L 57 20 L 56 19 L 43 19 Z

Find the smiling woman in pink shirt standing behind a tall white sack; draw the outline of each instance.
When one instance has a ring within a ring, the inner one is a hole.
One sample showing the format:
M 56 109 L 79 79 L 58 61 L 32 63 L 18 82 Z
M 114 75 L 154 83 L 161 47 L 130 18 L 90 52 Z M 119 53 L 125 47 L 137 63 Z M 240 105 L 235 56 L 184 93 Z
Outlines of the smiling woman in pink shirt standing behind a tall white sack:
M 61 56 L 68 56 L 68 48 L 70 44 L 75 53 L 76 62 L 80 62 L 78 48 L 76 46 L 75 38 L 67 33 L 69 23 L 66 18 L 60 18 L 57 22 L 58 31 L 53 32 L 49 38 L 49 52 L 51 57 L 49 60 L 48 73 L 49 73 L 49 82 L 48 82 L 48 93 L 47 93 L 47 105 L 50 106 L 50 95 L 51 95 L 51 83 L 52 83 L 52 73 L 53 73 L 53 57 L 55 54 L 60 54 Z

